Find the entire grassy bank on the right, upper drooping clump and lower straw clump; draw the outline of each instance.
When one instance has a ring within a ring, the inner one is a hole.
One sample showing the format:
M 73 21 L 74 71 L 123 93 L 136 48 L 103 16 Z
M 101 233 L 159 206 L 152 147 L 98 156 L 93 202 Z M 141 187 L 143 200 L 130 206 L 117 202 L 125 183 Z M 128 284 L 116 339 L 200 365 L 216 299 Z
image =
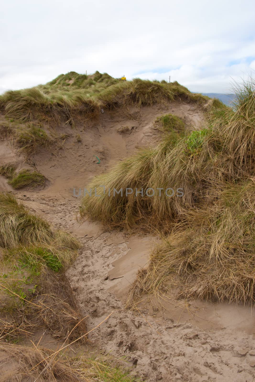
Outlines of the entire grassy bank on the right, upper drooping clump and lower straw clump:
M 138 276 L 129 305 L 141 292 L 166 293 L 176 285 L 185 285 L 186 297 L 255 301 L 254 81 L 237 89 L 236 99 L 233 109 L 213 108 L 205 128 L 171 131 L 158 147 L 117 163 L 86 187 L 93 192 L 83 198 L 82 215 L 112 228 L 143 223 L 170 233 Z

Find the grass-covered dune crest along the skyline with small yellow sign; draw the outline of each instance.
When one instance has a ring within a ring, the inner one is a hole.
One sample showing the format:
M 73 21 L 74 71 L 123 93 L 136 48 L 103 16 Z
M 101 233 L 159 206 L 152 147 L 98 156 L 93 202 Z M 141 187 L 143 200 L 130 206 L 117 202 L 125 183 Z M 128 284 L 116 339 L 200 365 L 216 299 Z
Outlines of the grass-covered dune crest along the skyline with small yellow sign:
M 0 96 L 0 107 L 9 116 L 23 121 L 35 118 L 47 120 L 63 118 L 73 124 L 73 118 L 95 116 L 101 108 L 113 109 L 123 105 L 152 105 L 156 102 L 185 100 L 203 105 L 209 98 L 194 94 L 176 81 L 148 81 L 139 78 L 121 81 L 96 71 L 91 76 L 69 72 L 53 81 Z M 220 103 L 218 100 L 214 100 Z

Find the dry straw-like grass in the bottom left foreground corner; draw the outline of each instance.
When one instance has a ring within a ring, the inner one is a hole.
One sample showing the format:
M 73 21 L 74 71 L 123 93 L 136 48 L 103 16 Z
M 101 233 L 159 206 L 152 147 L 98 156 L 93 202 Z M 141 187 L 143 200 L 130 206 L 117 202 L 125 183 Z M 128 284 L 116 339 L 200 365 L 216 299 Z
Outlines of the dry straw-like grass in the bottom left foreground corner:
M 72 357 L 64 351 L 53 352 L 37 346 L 0 344 L 0 354 L 7 365 L 2 381 L 36 380 L 39 382 L 135 382 L 109 359 Z M 106 362 L 106 360 L 108 362 Z M 13 367 L 12 362 L 16 365 Z M 8 370 L 8 366 L 10 371 Z

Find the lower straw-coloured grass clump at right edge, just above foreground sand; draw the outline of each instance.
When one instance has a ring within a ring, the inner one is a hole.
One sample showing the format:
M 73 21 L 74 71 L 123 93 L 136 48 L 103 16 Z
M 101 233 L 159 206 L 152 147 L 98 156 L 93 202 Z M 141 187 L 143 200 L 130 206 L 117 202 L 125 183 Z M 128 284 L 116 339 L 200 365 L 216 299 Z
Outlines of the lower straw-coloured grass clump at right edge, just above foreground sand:
M 255 178 L 226 185 L 210 207 L 190 211 L 138 274 L 128 305 L 142 293 L 255 302 Z

